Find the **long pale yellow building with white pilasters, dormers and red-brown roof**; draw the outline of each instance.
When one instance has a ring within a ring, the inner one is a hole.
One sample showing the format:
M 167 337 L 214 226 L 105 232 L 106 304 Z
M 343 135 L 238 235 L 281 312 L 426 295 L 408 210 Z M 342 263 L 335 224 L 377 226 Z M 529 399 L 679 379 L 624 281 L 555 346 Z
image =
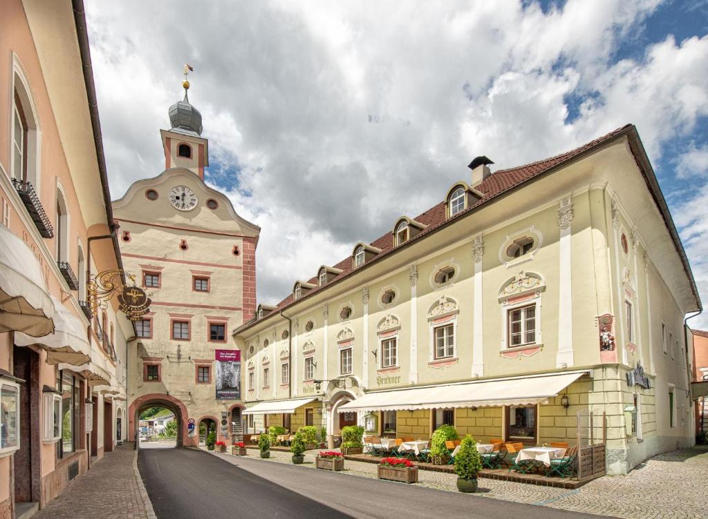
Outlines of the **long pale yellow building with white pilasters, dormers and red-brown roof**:
M 701 303 L 634 126 L 490 163 L 234 330 L 250 432 L 583 444 L 604 414 L 614 474 L 692 445 L 684 318 Z

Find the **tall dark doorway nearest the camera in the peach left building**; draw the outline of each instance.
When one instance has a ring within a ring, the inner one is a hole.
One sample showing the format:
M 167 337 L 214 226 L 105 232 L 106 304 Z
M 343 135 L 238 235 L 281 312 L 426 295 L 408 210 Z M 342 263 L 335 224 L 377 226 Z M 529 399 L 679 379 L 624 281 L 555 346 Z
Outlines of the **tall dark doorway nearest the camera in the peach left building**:
M 13 455 L 15 502 L 38 501 L 39 493 L 39 356 L 25 347 L 13 347 L 13 374 L 25 381 L 20 389 L 20 450 Z M 33 499 L 33 494 L 35 498 Z

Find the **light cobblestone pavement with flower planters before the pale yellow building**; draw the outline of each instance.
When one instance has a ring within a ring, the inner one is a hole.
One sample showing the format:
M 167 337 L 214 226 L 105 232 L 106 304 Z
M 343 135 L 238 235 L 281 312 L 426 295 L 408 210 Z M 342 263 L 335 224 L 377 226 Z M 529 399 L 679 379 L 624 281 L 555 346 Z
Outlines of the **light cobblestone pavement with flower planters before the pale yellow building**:
M 315 468 L 315 453 L 305 453 L 302 467 Z M 258 457 L 258 451 L 249 449 L 249 457 Z M 290 458 L 290 453 L 271 450 L 263 462 L 291 463 Z M 344 467 L 346 474 L 376 478 L 373 463 L 346 460 Z M 708 518 L 706 474 L 708 448 L 697 447 L 658 455 L 626 476 L 601 477 L 575 490 L 481 478 L 476 495 L 624 519 L 700 519 Z M 418 479 L 418 486 L 457 492 L 455 474 L 421 470 Z

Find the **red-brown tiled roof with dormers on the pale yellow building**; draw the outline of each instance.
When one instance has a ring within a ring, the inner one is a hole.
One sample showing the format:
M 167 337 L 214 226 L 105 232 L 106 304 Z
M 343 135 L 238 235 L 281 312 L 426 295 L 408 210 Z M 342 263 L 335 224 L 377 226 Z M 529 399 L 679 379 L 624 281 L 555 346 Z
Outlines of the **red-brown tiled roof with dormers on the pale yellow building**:
M 423 238 L 423 236 L 427 235 L 428 233 L 434 231 L 437 228 L 440 228 L 446 222 L 455 221 L 455 219 L 459 218 L 459 216 L 461 216 L 462 214 L 466 214 L 468 211 L 473 211 L 479 206 L 489 203 L 491 200 L 495 199 L 496 197 L 499 197 L 501 194 L 508 192 L 516 187 L 520 187 L 520 185 L 523 185 L 524 182 L 532 180 L 533 178 L 538 177 L 543 173 L 547 173 L 556 166 L 568 163 L 572 159 L 578 158 L 578 156 L 581 156 L 583 153 L 593 151 L 593 149 L 598 148 L 603 144 L 607 144 L 607 142 L 612 141 L 617 136 L 626 133 L 627 130 L 631 128 L 633 128 L 632 124 L 627 124 L 622 128 L 618 128 L 607 135 L 601 136 L 598 139 L 595 139 L 594 141 L 588 142 L 588 144 L 580 146 L 579 148 L 575 148 L 574 150 L 568 151 L 566 153 L 561 153 L 560 155 L 556 155 L 551 158 L 545 158 L 542 161 L 521 165 L 516 168 L 495 171 L 492 175 L 489 175 L 489 177 L 487 177 L 483 182 L 481 182 L 480 185 L 476 186 L 476 189 L 484 193 L 484 197 L 477 200 L 473 204 L 469 204 L 469 206 L 464 209 L 464 211 L 460 211 L 454 217 L 445 218 L 445 202 L 443 201 L 431 207 L 423 214 L 416 216 L 416 218 L 413 218 L 414 220 L 426 225 L 426 228 L 424 228 L 420 233 L 411 238 L 411 240 L 406 242 L 405 245 L 408 245 L 409 243 L 414 242 L 416 240 L 420 240 L 421 238 Z M 357 270 L 361 270 L 367 267 L 368 265 L 379 261 L 382 257 L 385 257 L 394 249 L 399 249 L 405 246 L 401 245 L 401 247 L 394 247 L 393 235 L 390 232 L 384 234 L 381 238 L 378 238 L 377 240 L 373 241 L 371 245 L 373 245 L 374 247 L 378 247 L 382 250 L 382 252 L 380 252 L 371 260 L 366 262 L 364 267 L 360 267 Z M 314 277 L 309 279 L 309 283 L 314 284 L 316 288 L 313 288 L 307 293 L 306 296 L 303 296 L 298 301 L 302 301 L 302 299 L 312 296 L 312 294 L 317 293 L 318 291 L 327 288 L 332 284 L 335 284 L 337 281 L 340 281 L 341 279 L 351 274 L 354 270 L 352 265 L 352 258 L 350 256 L 346 257 L 338 264 L 333 265 L 333 267 L 342 269 L 341 274 L 338 274 L 335 278 L 331 279 L 331 281 L 329 281 L 329 283 L 327 283 L 323 287 L 317 286 L 317 276 L 315 275 Z M 280 301 L 280 303 L 275 306 L 275 310 L 273 310 L 273 312 L 268 313 L 268 316 L 273 313 L 277 313 L 279 310 L 287 308 L 292 302 L 293 299 L 291 293 L 290 296 L 287 296 L 287 298 Z M 268 316 L 264 315 L 263 319 L 267 318 Z M 253 319 L 249 322 L 244 323 L 241 328 L 248 327 L 255 322 L 256 319 Z

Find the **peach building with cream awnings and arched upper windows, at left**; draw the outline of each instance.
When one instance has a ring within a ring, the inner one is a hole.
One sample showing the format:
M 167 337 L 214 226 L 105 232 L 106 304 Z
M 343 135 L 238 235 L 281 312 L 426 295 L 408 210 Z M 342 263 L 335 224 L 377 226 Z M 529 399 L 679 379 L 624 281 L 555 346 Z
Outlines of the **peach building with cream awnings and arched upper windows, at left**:
M 7 0 L 0 17 L 0 518 L 20 517 L 125 438 L 121 269 L 81 1 Z M 71 490 L 67 490 L 71 491 Z

